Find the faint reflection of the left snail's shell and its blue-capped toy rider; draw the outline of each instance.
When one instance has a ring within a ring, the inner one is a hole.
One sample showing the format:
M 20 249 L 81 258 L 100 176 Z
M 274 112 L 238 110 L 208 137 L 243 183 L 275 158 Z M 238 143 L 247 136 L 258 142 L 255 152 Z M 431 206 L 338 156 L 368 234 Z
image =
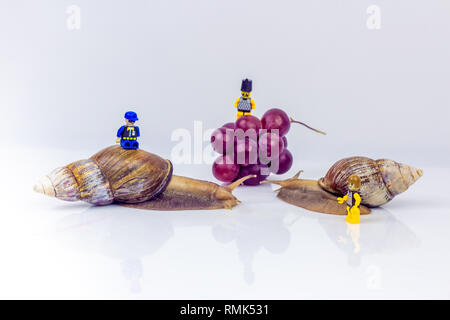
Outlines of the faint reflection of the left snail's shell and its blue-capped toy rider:
M 135 214 L 111 206 L 91 207 L 60 220 L 60 237 L 75 249 L 104 254 L 120 261 L 122 275 L 132 292 L 140 292 L 143 276 L 142 257 L 155 253 L 174 233 L 173 226 L 161 214 Z

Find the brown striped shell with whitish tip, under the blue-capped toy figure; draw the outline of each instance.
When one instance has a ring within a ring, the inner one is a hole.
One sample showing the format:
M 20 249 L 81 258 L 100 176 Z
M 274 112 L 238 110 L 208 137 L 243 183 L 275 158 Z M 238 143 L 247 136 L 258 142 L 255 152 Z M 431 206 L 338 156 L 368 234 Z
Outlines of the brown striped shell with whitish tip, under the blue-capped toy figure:
M 160 194 L 170 182 L 169 160 L 143 151 L 111 146 L 90 159 L 53 170 L 34 190 L 66 201 L 95 205 L 139 203 Z

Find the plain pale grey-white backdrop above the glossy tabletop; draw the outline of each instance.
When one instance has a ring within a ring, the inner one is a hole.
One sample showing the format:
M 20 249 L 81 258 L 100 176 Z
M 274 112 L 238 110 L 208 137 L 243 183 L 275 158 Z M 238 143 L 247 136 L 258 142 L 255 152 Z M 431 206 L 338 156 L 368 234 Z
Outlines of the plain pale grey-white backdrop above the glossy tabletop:
M 448 0 L 1 0 L 1 143 L 87 156 L 133 106 L 141 147 L 169 157 L 175 129 L 235 119 L 248 77 L 254 115 L 328 133 L 291 129 L 300 165 L 448 166 L 449 17 Z

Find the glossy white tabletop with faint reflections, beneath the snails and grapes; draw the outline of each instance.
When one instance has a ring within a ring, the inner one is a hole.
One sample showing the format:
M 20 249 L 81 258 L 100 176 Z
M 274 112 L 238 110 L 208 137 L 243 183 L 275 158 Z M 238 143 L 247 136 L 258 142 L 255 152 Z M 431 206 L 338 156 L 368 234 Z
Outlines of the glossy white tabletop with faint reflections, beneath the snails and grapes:
M 450 298 L 449 169 L 423 168 L 363 216 L 355 253 L 343 217 L 283 203 L 268 185 L 236 189 L 232 211 L 91 207 L 32 191 L 87 152 L 11 152 L 0 160 L 0 298 Z M 176 173 L 211 180 L 209 170 Z

